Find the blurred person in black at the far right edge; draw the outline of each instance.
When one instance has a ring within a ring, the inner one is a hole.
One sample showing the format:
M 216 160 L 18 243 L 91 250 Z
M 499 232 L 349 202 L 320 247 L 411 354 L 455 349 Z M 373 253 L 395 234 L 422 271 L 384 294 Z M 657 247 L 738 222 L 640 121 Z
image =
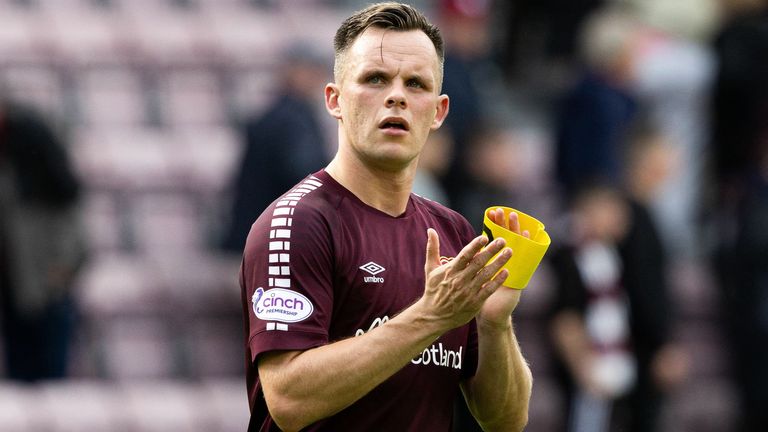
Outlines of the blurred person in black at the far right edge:
M 715 263 L 741 402 L 739 431 L 768 430 L 768 2 L 732 0 L 715 42 Z

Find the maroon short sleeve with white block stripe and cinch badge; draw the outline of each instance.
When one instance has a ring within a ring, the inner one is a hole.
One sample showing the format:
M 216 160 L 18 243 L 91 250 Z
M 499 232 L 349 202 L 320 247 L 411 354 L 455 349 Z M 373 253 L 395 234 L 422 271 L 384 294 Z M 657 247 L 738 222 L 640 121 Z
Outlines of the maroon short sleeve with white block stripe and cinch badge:
M 324 212 L 307 198 L 276 201 L 248 235 L 240 280 L 251 361 L 266 351 L 328 343 L 332 236 Z

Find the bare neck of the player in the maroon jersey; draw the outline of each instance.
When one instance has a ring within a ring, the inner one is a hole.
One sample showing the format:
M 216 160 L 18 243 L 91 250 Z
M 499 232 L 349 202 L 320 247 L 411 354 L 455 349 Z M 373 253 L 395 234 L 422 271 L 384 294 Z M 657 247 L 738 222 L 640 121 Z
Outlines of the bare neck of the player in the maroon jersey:
M 390 216 L 405 213 L 411 196 L 416 164 L 400 171 L 387 171 L 349 161 L 336 154 L 325 171 L 360 201 Z

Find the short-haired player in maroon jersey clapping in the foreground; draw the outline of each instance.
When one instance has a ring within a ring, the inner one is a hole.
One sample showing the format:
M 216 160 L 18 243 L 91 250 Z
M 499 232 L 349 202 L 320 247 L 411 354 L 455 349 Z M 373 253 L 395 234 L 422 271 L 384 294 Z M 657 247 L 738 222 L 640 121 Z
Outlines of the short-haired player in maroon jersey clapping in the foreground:
M 459 387 L 487 430 L 521 430 L 532 384 L 512 330 L 520 291 L 501 287 L 512 251 L 411 194 L 448 114 L 439 31 L 382 3 L 348 18 L 335 49 L 337 154 L 245 247 L 249 430 L 448 431 Z M 520 232 L 516 214 L 493 219 Z

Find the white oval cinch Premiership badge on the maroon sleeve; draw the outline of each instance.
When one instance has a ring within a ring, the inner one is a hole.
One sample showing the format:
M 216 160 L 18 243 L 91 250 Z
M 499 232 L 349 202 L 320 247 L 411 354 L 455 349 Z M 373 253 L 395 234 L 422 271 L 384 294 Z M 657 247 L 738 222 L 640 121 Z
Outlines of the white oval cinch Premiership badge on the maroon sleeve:
M 299 322 L 312 315 L 314 306 L 308 298 L 296 291 L 259 287 L 251 297 L 253 313 L 264 321 Z

